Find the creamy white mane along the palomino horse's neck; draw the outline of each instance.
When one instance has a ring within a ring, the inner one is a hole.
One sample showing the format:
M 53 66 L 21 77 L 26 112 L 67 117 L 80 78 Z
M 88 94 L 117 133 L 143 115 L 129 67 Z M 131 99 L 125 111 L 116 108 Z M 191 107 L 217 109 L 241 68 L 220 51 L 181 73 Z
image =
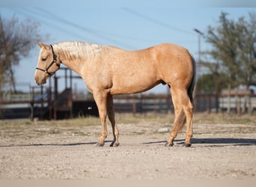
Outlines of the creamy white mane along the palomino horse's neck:
M 62 42 L 52 45 L 53 49 L 66 58 L 72 60 L 94 58 L 103 50 L 103 46 L 84 42 Z

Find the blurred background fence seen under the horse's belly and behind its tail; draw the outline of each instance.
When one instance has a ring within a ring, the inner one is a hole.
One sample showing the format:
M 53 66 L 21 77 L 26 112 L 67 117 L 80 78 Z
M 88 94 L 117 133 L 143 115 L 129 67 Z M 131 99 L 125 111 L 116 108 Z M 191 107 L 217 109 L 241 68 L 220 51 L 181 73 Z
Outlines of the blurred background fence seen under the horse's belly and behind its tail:
M 114 96 L 114 104 L 117 112 L 174 112 L 171 95 L 166 94 Z M 195 112 L 207 111 L 210 113 L 230 110 L 234 113 L 246 113 L 249 108 L 251 108 L 251 112 L 256 111 L 256 94 L 196 94 L 194 99 Z

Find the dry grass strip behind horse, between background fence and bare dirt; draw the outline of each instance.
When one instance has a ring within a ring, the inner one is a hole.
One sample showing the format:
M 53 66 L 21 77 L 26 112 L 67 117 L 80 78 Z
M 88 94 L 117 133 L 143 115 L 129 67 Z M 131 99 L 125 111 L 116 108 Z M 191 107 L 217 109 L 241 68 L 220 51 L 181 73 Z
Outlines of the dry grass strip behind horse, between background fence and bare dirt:
M 122 133 L 129 135 L 159 134 L 159 128 L 171 129 L 174 114 L 116 114 L 116 121 Z M 255 133 L 255 115 L 194 114 L 195 134 Z M 213 124 L 213 125 L 211 125 Z M 230 124 L 230 125 L 229 125 Z M 108 126 L 110 123 L 108 121 Z M 225 126 L 225 128 L 223 128 Z M 246 126 L 246 128 L 244 128 Z M 128 128 L 128 129 L 127 129 Z M 151 128 L 151 129 L 150 129 Z M 112 131 L 109 128 L 109 132 Z M 170 133 L 169 131 L 163 133 Z M 185 133 L 184 129 L 180 133 Z M 0 138 L 6 141 L 22 142 L 37 138 L 64 138 L 72 136 L 100 136 L 99 117 L 79 117 L 72 120 L 0 120 Z M 62 139 L 61 139 L 62 141 Z M 10 144 L 10 143 L 8 143 Z

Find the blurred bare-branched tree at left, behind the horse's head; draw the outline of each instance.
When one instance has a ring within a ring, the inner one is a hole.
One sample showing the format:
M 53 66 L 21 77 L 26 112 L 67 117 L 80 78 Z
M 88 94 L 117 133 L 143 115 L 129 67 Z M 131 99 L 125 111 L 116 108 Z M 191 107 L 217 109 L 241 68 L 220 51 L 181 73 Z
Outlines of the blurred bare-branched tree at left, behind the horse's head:
M 28 56 L 40 39 L 38 26 L 30 19 L 21 22 L 15 16 L 2 19 L 0 15 L 0 96 L 6 85 L 16 91 L 13 67 L 21 58 Z

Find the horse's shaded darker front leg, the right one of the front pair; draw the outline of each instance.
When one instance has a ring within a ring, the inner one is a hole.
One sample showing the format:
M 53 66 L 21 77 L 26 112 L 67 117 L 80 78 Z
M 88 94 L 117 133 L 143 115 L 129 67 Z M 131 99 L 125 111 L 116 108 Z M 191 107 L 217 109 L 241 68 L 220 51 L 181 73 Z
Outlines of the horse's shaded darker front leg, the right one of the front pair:
M 108 117 L 110 120 L 110 123 L 112 125 L 112 131 L 113 131 L 113 136 L 114 140 L 110 144 L 110 147 L 118 147 L 119 146 L 119 131 L 118 131 L 118 126 L 115 124 L 115 112 L 114 112 L 114 105 L 113 105 L 113 96 L 108 95 L 107 98 L 107 111 L 108 111 Z

